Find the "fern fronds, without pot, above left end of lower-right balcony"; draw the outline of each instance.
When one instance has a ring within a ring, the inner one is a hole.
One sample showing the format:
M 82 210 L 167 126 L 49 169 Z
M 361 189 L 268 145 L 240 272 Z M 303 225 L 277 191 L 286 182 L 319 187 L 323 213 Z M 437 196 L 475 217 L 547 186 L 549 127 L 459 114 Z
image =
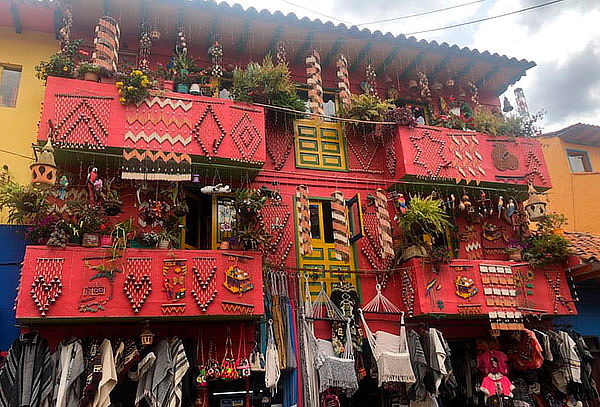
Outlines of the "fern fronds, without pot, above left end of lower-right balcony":
M 442 201 L 431 196 L 414 196 L 410 199 L 406 213 L 399 220 L 404 236 L 409 243 L 417 244 L 417 236 L 424 233 L 436 235 L 450 226 Z

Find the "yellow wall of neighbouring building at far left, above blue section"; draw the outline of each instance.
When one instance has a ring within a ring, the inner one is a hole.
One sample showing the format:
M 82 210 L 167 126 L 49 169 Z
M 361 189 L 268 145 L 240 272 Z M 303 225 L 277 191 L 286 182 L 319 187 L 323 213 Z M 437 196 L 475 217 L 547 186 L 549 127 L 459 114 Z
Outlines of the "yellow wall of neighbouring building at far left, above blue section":
M 0 107 L 0 167 L 8 165 L 9 175 L 17 182 L 29 182 L 32 160 L 31 143 L 37 137 L 44 83 L 35 77 L 34 67 L 56 52 L 53 34 L 0 27 L 0 64 L 21 68 L 16 107 Z

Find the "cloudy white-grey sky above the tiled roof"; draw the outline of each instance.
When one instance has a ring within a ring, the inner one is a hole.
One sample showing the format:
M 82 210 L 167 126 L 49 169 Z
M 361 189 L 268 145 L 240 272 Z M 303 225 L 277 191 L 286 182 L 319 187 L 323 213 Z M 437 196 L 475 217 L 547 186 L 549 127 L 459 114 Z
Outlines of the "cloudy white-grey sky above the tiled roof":
M 333 22 L 362 24 L 473 0 L 228 0 L 244 7 L 294 12 Z M 399 21 L 361 25 L 393 34 L 411 33 L 504 14 L 548 0 L 483 0 L 468 6 Z M 313 11 L 314 10 L 314 11 Z M 321 14 L 317 14 L 321 13 Z M 600 125 L 600 0 L 564 0 L 539 9 L 459 28 L 418 34 L 535 61 L 517 86 L 532 112 L 547 111 L 544 130 L 576 122 Z M 512 89 L 507 95 L 512 98 Z

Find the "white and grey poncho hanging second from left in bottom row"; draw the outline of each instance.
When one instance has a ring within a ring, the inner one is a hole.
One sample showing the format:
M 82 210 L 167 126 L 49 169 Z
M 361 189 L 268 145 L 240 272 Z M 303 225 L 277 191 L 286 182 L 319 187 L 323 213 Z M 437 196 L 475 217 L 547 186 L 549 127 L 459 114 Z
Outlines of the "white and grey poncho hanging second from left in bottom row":
M 81 398 L 81 380 L 85 370 L 81 341 L 72 337 L 63 340 L 52 358 L 55 370 L 52 405 L 78 407 Z

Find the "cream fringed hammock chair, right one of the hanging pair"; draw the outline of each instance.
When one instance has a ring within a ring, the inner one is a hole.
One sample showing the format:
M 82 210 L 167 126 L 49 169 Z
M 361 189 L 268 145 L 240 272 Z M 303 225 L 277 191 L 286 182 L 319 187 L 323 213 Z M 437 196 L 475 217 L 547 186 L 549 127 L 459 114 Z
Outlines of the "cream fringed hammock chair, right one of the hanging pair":
M 379 386 L 386 382 L 414 383 L 416 378 L 406 341 L 404 313 L 401 313 L 400 336 L 384 331 L 373 334 L 367 325 L 363 310 L 359 310 L 359 313 L 373 357 L 377 362 Z

